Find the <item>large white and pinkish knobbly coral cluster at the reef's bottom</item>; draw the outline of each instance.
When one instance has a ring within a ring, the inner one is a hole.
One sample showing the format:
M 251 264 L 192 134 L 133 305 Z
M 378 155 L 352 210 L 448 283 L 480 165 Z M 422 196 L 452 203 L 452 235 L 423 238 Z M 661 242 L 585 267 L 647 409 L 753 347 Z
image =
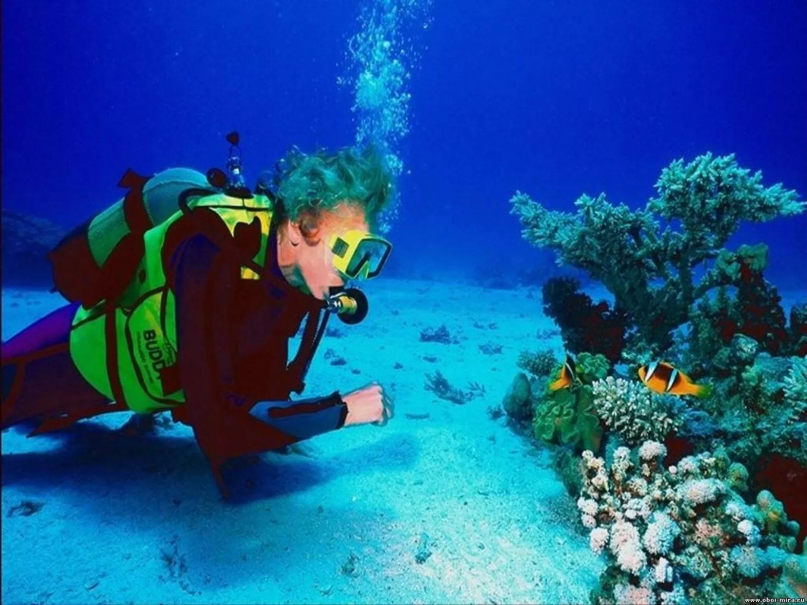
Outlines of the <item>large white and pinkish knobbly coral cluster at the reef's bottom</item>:
M 786 562 L 798 575 L 798 524 L 769 492 L 746 503 L 740 465 L 707 452 L 664 469 L 666 454 L 658 441 L 618 448 L 610 465 L 583 453 L 578 507 L 608 563 L 596 603 L 742 603 L 773 594 Z

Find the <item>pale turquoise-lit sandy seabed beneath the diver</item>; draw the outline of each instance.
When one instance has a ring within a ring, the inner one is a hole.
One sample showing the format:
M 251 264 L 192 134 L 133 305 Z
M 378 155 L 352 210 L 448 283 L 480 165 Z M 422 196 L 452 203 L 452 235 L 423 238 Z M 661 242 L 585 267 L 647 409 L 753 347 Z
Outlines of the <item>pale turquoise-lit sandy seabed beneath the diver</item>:
M 345 337 L 324 339 L 305 394 L 378 380 L 395 392 L 396 418 L 309 441 L 316 459 L 272 453 L 236 464 L 232 502 L 181 425 L 126 437 L 114 429 L 128 415 L 110 415 L 56 436 L 4 432 L 3 602 L 586 603 L 601 564 L 573 524 L 574 501 L 546 453 L 486 413 L 521 349 L 560 353 L 558 337 L 536 338 L 553 328 L 538 291 L 371 286 L 370 316 L 353 328 L 332 323 Z M 3 339 L 61 304 L 4 291 Z M 418 341 L 441 323 L 460 344 Z M 502 353 L 484 355 L 488 341 Z M 328 348 L 347 365 L 329 365 Z M 487 394 L 441 401 L 424 390 L 435 369 Z M 23 499 L 44 507 L 6 516 Z M 424 532 L 432 555 L 420 564 Z M 355 570 L 342 573 L 351 553 Z

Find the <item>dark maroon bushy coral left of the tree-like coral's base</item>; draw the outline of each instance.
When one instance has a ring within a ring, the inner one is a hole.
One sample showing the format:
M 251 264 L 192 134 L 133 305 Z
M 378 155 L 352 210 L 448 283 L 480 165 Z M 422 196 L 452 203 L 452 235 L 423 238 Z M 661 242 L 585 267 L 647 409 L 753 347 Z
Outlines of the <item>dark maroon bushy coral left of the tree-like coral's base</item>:
M 541 289 L 544 313 L 555 320 L 571 353 L 601 353 L 612 363 L 625 348 L 625 314 L 596 305 L 572 277 L 553 277 Z

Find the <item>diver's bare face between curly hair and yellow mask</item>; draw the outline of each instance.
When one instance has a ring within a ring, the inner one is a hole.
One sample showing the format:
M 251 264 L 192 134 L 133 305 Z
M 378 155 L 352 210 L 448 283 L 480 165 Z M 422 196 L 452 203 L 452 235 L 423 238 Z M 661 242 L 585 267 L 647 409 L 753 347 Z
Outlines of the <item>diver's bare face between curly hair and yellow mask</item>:
M 370 226 L 362 211 L 342 204 L 321 216 L 316 230 L 299 246 L 297 269 L 312 296 L 324 300 L 331 288 L 345 286 L 345 276 L 333 265 L 334 254 L 328 243 L 332 236 L 352 229 L 369 231 Z

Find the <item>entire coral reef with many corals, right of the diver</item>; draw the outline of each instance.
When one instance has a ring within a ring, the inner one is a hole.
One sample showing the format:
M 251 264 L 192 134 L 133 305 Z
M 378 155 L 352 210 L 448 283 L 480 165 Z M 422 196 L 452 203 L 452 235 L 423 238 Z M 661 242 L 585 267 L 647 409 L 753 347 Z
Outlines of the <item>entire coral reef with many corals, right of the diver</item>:
M 807 525 L 807 305 L 784 309 L 765 278 L 765 244 L 725 246 L 740 223 L 807 204 L 710 153 L 672 162 L 655 187 L 637 210 L 604 194 L 583 195 L 574 213 L 521 192 L 511 200 L 526 240 L 613 294 L 612 308 L 574 279 L 546 282 L 544 312 L 577 354 L 579 380 L 546 391 L 533 418 L 538 438 L 562 444 L 554 465 L 581 494 L 592 549 L 608 561 L 592 599 L 804 597 L 805 554 L 795 551 L 805 529 L 795 519 Z M 608 363 L 586 372 L 594 357 L 585 353 L 601 353 L 616 373 Z M 712 395 L 660 396 L 621 374 L 659 359 Z M 523 355 L 521 369 L 534 372 L 531 361 Z

